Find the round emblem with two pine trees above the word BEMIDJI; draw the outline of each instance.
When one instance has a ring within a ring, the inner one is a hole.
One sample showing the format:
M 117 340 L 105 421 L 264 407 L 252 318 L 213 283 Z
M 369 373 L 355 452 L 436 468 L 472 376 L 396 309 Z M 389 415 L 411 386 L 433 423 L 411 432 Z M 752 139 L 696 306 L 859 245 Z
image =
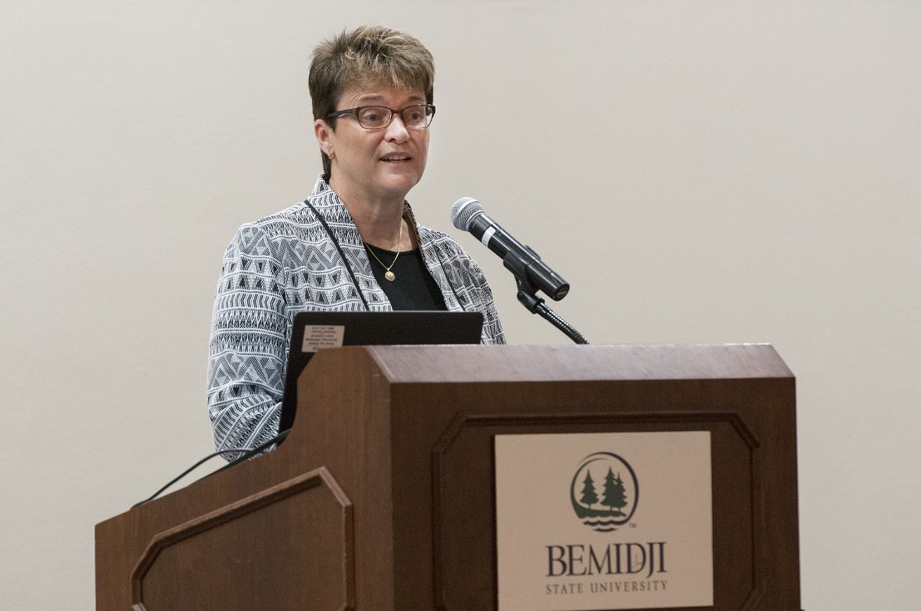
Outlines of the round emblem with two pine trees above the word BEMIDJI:
M 600 489 L 595 483 L 599 477 Z M 638 498 L 639 483 L 633 467 L 611 452 L 583 458 L 569 486 L 573 511 L 582 524 L 600 533 L 610 533 L 629 522 Z

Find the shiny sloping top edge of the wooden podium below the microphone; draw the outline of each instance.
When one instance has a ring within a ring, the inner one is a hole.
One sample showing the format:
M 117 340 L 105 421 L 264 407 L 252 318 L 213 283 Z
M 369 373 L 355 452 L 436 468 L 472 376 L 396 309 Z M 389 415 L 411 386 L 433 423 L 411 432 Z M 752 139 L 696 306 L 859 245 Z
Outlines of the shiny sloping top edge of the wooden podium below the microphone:
M 356 346 L 391 383 L 792 378 L 768 344 Z M 317 354 L 322 358 L 321 351 Z

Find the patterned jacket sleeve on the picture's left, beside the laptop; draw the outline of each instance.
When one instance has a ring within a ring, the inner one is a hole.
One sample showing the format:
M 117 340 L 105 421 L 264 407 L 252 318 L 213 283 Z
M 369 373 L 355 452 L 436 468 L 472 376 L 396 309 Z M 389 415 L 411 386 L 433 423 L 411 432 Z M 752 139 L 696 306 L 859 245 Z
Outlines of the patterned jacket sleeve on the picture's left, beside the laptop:
M 282 278 L 262 228 L 241 226 L 221 265 L 208 351 L 208 416 L 218 450 L 255 447 L 278 433 L 289 331 Z

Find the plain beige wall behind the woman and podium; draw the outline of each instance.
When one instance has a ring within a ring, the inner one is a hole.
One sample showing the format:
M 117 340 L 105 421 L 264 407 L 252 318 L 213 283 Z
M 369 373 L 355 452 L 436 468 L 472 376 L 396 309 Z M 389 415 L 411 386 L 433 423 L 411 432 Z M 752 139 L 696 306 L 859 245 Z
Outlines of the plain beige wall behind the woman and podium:
M 91 608 L 93 525 L 210 451 L 221 255 L 308 194 L 309 51 L 363 22 L 436 56 L 420 221 L 458 235 L 480 199 L 593 342 L 775 344 L 804 606 L 916 608 L 921 4 L 896 0 L 6 0 L 5 608 Z M 565 342 L 460 239 L 511 341 Z

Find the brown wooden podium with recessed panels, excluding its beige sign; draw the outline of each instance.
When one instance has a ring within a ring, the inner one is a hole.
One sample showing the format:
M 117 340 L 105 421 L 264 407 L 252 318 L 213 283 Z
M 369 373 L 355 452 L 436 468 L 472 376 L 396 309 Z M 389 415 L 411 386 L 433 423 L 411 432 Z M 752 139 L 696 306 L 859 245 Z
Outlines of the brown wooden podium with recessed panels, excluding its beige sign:
M 799 609 L 794 378 L 767 345 L 318 352 L 272 453 L 96 526 L 98 611 L 496 608 L 493 440 L 708 431 L 717 611 Z

